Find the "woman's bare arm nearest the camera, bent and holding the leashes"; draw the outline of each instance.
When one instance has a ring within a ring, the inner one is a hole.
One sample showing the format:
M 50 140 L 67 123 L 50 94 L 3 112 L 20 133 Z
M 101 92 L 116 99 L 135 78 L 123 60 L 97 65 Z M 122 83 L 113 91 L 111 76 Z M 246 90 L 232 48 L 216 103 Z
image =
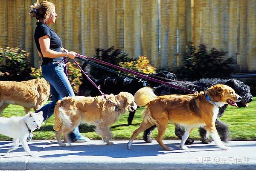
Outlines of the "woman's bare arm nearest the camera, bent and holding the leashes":
M 71 59 L 76 57 L 76 53 L 73 51 L 58 52 L 58 51 L 51 50 L 50 49 L 50 41 L 51 40 L 48 35 L 45 35 L 45 36 L 39 38 L 39 45 L 41 48 L 42 55 L 44 57 L 55 58 L 55 57 L 64 57 L 66 55 Z

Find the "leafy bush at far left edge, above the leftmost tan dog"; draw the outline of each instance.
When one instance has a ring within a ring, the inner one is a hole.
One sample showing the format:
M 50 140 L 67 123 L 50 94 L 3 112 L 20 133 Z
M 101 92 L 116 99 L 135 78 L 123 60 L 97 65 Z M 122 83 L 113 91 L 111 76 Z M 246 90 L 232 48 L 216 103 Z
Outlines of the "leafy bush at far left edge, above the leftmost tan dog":
M 1 80 L 22 81 L 30 78 L 29 54 L 20 48 L 0 48 Z

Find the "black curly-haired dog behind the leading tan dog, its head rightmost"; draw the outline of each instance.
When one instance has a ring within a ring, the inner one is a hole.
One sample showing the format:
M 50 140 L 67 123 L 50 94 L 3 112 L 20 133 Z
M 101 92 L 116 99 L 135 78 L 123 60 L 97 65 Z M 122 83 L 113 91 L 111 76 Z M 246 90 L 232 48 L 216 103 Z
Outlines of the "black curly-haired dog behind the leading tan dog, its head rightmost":
M 201 79 L 201 80 L 193 81 L 193 82 L 184 81 L 184 83 L 190 83 L 190 84 L 194 84 L 197 86 L 186 85 L 186 84 L 181 84 L 181 83 L 176 83 L 176 82 L 170 82 L 170 83 L 172 83 L 174 85 L 179 85 L 183 88 L 196 90 L 198 92 L 204 91 L 207 88 L 209 88 L 215 84 L 225 84 L 225 85 L 232 87 L 235 90 L 235 92 L 242 97 L 242 100 L 237 103 L 239 108 L 247 107 L 248 103 L 253 101 L 253 96 L 250 94 L 250 87 L 248 85 L 245 85 L 242 81 L 239 81 L 236 79 L 224 80 L 224 79 L 213 78 L 213 79 Z M 172 88 L 168 85 L 159 85 L 157 87 L 154 87 L 154 93 L 157 96 L 167 95 L 167 94 L 188 94 L 185 91 L 181 91 L 176 88 Z M 224 114 L 224 111 L 226 108 L 227 108 L 227 104 L 222 106 L 221 108 L 219 108 L 218 117 L 215 122 L 216 129 L 217 129 L 218 133 L 220 134 L 221 140 L 223 140 L 225 142 L 227 142 L 229 140 L 229 135 L 230 135 L 229 128 L 226 123 L 218 120 L 218 118 L 220 118 Z M 148 128 L 147 130 L 144 131 L 143 140 L 145 142 L 148 142 L 148 143 L 152 142 L 151 133 L 155 128 L 156 128 L 156 126 L 154 125 L 151 128 Z M 175 134 L 177 137 L 182 139 L 184 132 L 185 131 L 184 131 L 183 127 L 176 125 Z M 203 143 L 212 142 L 212 140 L 209 137 L 207 137 L 207 131 L 204 128 L 199 128 L 199 133 L 200 133 L 201 140 Z M 193 142 L 194 142 L 194 140 L 192 138 L 188 138 L 186 141 L 186 144 L 192 144 Z

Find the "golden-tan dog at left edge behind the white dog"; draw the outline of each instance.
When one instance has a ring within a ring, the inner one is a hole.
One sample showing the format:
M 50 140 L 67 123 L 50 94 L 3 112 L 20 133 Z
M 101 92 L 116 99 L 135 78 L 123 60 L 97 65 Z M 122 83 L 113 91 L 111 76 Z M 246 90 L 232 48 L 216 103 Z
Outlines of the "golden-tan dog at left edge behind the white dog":
M 50 95 L 50 85 L 43 78 L 28 81 L 0 81 L 0 114 L 9 104 L 21 105 L 26 113 L 40 109 Z

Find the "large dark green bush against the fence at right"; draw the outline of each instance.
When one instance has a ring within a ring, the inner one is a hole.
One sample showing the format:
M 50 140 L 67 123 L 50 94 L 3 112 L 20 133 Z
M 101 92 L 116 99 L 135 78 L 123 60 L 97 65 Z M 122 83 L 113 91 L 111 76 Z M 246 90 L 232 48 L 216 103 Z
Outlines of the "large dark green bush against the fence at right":
M 183 58 L 183 66 L 177 68 L 178 78 L 186 80 L 198 80 L 200 78 L 224 78 L 229 77 L 234 71 L 235 61 L 233 58 L 224 59 L 225 52 L 212 48 L 207 52 L 204 44 L 200 44 L 198 51 L 194 46 L 189 46 L 189 50 Z

